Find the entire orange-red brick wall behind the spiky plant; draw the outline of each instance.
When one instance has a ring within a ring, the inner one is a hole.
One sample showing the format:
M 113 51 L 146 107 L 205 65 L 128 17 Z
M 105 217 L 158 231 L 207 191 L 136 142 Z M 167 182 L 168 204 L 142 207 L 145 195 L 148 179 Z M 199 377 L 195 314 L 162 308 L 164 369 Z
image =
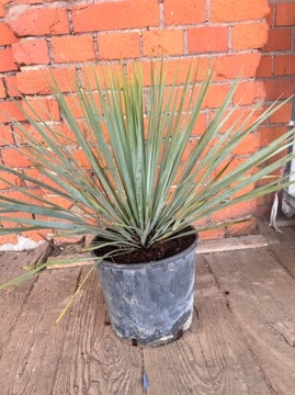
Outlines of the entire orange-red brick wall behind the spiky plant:
M 72 87 L 72 74 L 83 78 L 93 64 L 116 64 L 118 59 L 128 64 L 133 58 L 148 63 L 149 56 L 163 53 L 171 72 L 181 57 L 180 80 L 185 78 L 184 66 L 193 58 L 201 60 L 201 74 L 208 63 L 216 64 L 214 86 L 198 122 L 202 131 L 230 81 L 241 70 L 242 83 L 234 100 L 240 101 L 240 114 L 249 112 L 258 100 L 265 98 L 269 104 L 293 92 L 294 15 L 295 0 L 270 0 L 270 4 L 266 0 L 2 0 L 0 110 L 24 121 L 10 99 L 10 95 L 18 97 L 16 88 L 26 95 L 43 97 L 49 113 L 59 121 L 56 103 L 46 97 L 44 75 L 48 68 L 61 89 L 68 91 Z M 251 155 L 260 139 L 262 145 L 268 144 L 282 133 L 290 121 L 290 110 L 286 106 L 274 115 L 261 135 L 250 136 L 237 156 Z M 0 123 L 1 136 L 18 144 L 1 114 Z M 23 161 L 1 142 L 0 155 L 2 160 L 38 177 L 27 160 Z M 11 182 L 21 183 L 15 178 Z M 3 183 L 0 189 L 1 193 L 13 193 Z M 258 202 L 263 207 L 268 203 Z M 256 202 L 243 203 L 218 213 L 208 222 L 243 217 L 256 210 Z M 249 221 L 205 237 L 247 233 L 252 225 Z M 5 237 L 0 242 L 8 240 L 15 241 L 13 237 Z

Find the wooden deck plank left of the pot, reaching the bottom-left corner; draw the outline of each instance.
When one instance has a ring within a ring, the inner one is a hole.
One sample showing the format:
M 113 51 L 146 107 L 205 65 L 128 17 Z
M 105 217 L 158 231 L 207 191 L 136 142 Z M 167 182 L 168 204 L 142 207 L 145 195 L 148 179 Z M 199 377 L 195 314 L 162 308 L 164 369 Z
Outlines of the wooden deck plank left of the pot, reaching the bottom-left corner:
M 70 316 L 57 326 L 54 323 L 75 291 L 78 275 L 79 269 L 39 275 L 2 349 L 1 395 L 52 393 Z

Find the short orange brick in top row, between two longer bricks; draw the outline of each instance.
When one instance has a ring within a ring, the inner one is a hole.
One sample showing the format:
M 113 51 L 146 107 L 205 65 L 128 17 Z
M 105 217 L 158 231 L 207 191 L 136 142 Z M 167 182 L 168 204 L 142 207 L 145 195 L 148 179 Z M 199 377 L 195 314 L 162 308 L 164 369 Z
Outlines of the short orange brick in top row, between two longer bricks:
M 205 0 L 166 0 L 163 7 L 166 25 L 195 24 L 206 21 Z

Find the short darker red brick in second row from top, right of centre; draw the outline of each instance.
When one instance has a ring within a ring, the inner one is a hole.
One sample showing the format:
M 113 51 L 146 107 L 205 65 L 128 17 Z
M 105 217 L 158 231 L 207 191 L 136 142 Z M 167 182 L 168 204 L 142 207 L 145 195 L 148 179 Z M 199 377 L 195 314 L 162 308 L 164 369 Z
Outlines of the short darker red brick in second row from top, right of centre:
M 227 26 L 202 26 L 188 30 L 191 53 L 225 52 L 228 49 Z

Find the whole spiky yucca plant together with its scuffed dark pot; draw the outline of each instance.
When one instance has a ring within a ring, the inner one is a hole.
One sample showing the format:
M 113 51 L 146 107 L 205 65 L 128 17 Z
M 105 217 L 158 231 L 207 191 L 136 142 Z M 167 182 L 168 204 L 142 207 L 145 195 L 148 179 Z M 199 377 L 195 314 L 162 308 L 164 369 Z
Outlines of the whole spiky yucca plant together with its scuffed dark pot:
M 54 228 L 61 236 L 93 235 L 88 251 L 92 250 L 95 264 L 84 281 L 98 267 L 117 335 L 157 346 L 190 326 L 197 234 L 208 228 L 197 224 L 232 204 L 284 188 L 286 182 L 272 174 L 294 157 L 287 154 L 294 129 L 237 165 L 232 151 L 284 103 L 270 106 L 252 123 L 258 108 L 230 123 L 238 106 L 232 104 L 236 81 L 205 132 L 191 144 L 214 71 L 208 70 L 198 84 L 189 69 L 186 82 L 178 86 L 177 70 L 169 87 L 163 61 L 158 68 L 151 63 L 149 72 L 150 83 L 145 87 L 136 64 L 132 72 L 123 66 L 116 72 L 93 71 L 94 89 L 93 81 L 83 86 L 76 81 L 70 95 L 53 80 L 53 97 L 70 134 L 59 129 L 48 113 L 52 122 L 44 121 L 46 110 L 38 113 L 23 98 L 26 110 L 20 109 L 31 129 L 8 120 L 20 143 L 12 148 L 29 158 L 42 177 L 0 165 L 2 181 L 9 173 L 35 188 L 5 181 L 23 200 L 0 196 L 0 219 L 15 224 L 2 227 L 0 234 Z M 261 180 L 266 182 L 249 188 Z M 71 208 L 35 190 L 59 196 Z M 68 260 L 57 258 L 50 264 L 60 262 Z

